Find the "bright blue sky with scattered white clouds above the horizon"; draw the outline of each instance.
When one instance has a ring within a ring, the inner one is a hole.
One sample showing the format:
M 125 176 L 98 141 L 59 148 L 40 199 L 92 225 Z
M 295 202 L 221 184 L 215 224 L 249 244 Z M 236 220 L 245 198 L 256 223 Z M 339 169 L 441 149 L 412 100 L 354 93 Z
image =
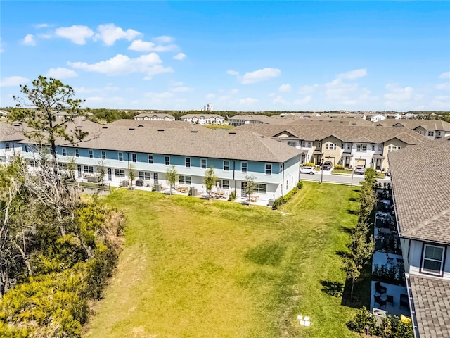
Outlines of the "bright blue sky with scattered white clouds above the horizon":
M 0 106 L 450 111 L 450 1 L 0 2 Z

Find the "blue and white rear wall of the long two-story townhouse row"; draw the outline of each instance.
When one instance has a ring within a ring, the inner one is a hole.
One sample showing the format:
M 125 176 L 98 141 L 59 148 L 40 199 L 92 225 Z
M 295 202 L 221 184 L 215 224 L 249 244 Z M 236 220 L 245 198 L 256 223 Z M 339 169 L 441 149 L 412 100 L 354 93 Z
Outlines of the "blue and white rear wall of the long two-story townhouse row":
M 25 150 L 25 144 L 22 145 Z M 65 156 L 63 155 L 65 149 Z M 76 156 L 76 151 L 79 156 Z M 104 167 L 104 182 L 108 182 L 115 186 L 120 186 L 122 181 L 129 180 L 129 165 L 134 170 L 135 180 L 142 177 L 143 184 L 152 187 L 153 184 L 160 184 L 164 189 L 168 187 L 166 182 L 167 169 L 174 165 L 176 172 L 180 176 L 191 177 L 191 183 L 177 182 L 177 186 L 195 187 L 198 192 L 206 192 L 205 188 L 205 171 L 207 168 L 214 168 L 214 173 L 219 180 L 228 181 L 227 187 L 222 187 L 219 182 L 217 189 L 223 190 L 226 194 L 236 189 L 236 196 L 243 196 L 242 182 L 246 182 L 247 175 L 255 177 L 255 183 L 265 184 L 266 189 L 261 192 L 255 192 L 261 201 L 269 201 L 276 199 L 281 194 L 286 194 L 293 189 L 299 180 L 299 157 L 291 158 L 285 163 L 266 163 L 259 161 L 240 161 L 230 160 L 226 158 L 200 158 L 187 156 L 174 156 L 170 154 L 144 154 L 134 153 L 130 151 L 104 151 L 105 158 L 102 159 L 101 149 L 84 149 L 75 147 L 60 147 L 56 149 L 58 162 L 67 165 L 71 161 L 75 163 L 74 175 L 77 180 L 87 180 L 89 177 L 96 177 Z M 119 154 L 122 154 L 120 161 Z M 24 157 L 28 161 L 32 161 L 37 153 L 23 152 Z M 90 154 L 92 157 L 89 157 Z M 133 156 L 135 154 L 135 156 Z M 153 163 L 148 163 L 148 156 L 153 156 Z M 165 164 L 165 157 L 169 156 L 169 165 Z M 133 161 L 133 159 L 136 161 Z M 186 158 L 190 158 L 191 165 L 186 167 Z M 202 163 L 205 160 L 205 168 Z M 228 162 L 228 170 L 224 166 Z M 243 163 L 246 163 L 247 170 L 243 172 Z M 266 165 L 271 166 L 271 173 L 266 173 Z M 39 168 L 31 168 L 30 170 L 39 170 Z M 142 174 L 142 175 L 141 175 Z M 158 180 L 155 180 L 158 175 Z M 180 177 L 181 178 L 181 177 Z M 181 181 L 181 180 L 180 180 Z M 225 182 L 222 182 L 225 183 Z

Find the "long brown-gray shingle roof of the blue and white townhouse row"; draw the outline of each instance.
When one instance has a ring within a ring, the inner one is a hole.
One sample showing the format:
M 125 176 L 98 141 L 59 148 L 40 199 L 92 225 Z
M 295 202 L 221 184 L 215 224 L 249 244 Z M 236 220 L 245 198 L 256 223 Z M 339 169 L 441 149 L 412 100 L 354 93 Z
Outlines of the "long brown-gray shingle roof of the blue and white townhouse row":
M 136 121 L 142 122 L 142 121 Z M 158 129 L 106 125 L 93 130 L 80 146 L 89 149 L 133 151 L 205 158 L 283 163 L 301 151 L 255 132 L 179 128 Z

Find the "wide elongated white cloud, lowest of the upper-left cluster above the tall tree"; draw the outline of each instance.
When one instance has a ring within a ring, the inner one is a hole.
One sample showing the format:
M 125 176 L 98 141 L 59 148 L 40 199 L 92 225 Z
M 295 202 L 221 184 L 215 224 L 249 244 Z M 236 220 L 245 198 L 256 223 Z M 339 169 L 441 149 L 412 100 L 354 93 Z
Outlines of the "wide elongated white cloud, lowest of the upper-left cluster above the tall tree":
M 155 53 L 141 55 L 137 58 L 129 58 L 123 54 L 117 54 L 113 58 L 97 63 L 68 62 L 73 68 L 86 70 L 87 72 L 102 73 L 105 75 L 128 75 L 132 73 L 144 73 L 144 80 L 150 80 L 153 75 L 172 73 L 170 67 L 163 67 L 160 56 Z

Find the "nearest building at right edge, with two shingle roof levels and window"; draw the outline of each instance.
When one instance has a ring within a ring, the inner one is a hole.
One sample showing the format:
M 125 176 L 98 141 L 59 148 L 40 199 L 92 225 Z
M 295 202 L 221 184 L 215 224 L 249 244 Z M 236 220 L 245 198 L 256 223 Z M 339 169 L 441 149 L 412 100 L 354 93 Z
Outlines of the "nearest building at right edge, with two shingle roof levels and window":
M 388 157 L 414 335 L 450 337 L 450 142 Z

